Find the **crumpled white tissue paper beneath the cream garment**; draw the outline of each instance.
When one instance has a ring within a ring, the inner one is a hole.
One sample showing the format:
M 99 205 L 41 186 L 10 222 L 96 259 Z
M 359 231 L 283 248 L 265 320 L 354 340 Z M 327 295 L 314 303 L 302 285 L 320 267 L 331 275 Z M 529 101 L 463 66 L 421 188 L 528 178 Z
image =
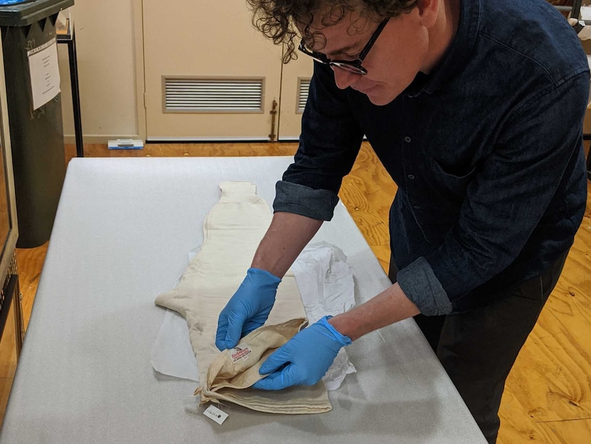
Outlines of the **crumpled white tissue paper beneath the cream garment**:
M 355 304 L 353 274 L 346 260 L 339 248 L 319 242 L 304 248 L 291 267 L 310 324 L 323 316 L 343 313 Z M 182 316 L 167 310 L 150 362 L 159 373 L 199 382 L 189 329 Z M 336 390 L 346 375 L 355 372 L 345 349 L 341 349 L 322 380 L 328 390 Z

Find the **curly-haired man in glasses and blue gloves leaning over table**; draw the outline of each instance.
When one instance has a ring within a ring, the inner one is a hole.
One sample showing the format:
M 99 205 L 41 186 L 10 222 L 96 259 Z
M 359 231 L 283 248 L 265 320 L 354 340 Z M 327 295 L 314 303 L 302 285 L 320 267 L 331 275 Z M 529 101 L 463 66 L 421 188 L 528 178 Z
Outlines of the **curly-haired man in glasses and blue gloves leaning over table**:
M 295 161 L 216 345 L 262 325 L 363 135 L 398 184 L 393 285 L 302 330 L 255 387 L 315 384 L 339 349 L 415 316 L 483 434 L 586 205 L 587 60 L 544 0 L 249 0 L 276 43 L 313 56 Z M 289 58 L 289 54 L 288 54 Z M 395 383 L 395 382 L 394 382 Z

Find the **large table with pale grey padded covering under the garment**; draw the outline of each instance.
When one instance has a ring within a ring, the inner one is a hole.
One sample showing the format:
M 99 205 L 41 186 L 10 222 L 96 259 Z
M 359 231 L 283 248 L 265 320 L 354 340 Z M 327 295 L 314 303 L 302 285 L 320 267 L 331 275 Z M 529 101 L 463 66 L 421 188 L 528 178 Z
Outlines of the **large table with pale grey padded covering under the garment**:
M 485 440 L 413 320 L 360 338 L 333 410 L 202 414 L 194 382 L 149 363 L 165 310 L 219 183 L 247 180 L 269 205 L 291 157 L 73 159 L 6 410 L 0 443 L 449 443 Z M 348 256 L 356 299 L 389 285 L 339 203 L 315 241 Z M 228 295 L 230 296 L 230 295 Z

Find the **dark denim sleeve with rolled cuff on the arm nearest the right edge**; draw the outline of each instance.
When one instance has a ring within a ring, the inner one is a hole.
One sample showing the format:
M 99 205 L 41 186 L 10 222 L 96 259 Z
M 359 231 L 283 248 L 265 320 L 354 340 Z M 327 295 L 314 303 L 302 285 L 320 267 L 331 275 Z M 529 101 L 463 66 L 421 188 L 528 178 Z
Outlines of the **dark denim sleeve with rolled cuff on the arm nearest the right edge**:
M 514 108 L 443 244 L 398 272 L 400 288 L 423 314 L 450 312 L 455 299 L 518 257 L 579 154 L 588 94 L 585 71 Z

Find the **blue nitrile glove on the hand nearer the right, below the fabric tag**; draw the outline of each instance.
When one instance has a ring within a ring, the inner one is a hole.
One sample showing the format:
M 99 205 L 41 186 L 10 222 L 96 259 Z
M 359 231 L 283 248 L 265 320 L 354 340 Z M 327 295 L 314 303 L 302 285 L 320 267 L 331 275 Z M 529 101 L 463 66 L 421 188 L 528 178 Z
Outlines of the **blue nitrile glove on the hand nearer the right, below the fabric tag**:
M 306 327 L 270 355 L 258 373 L 271 374 L 252 387 L 281 390 L 289 386 L 313 386 L 322 379 L 341 347 L 351 343 L 348 336 L 328 323 L 330 317 L 324 316 Z

